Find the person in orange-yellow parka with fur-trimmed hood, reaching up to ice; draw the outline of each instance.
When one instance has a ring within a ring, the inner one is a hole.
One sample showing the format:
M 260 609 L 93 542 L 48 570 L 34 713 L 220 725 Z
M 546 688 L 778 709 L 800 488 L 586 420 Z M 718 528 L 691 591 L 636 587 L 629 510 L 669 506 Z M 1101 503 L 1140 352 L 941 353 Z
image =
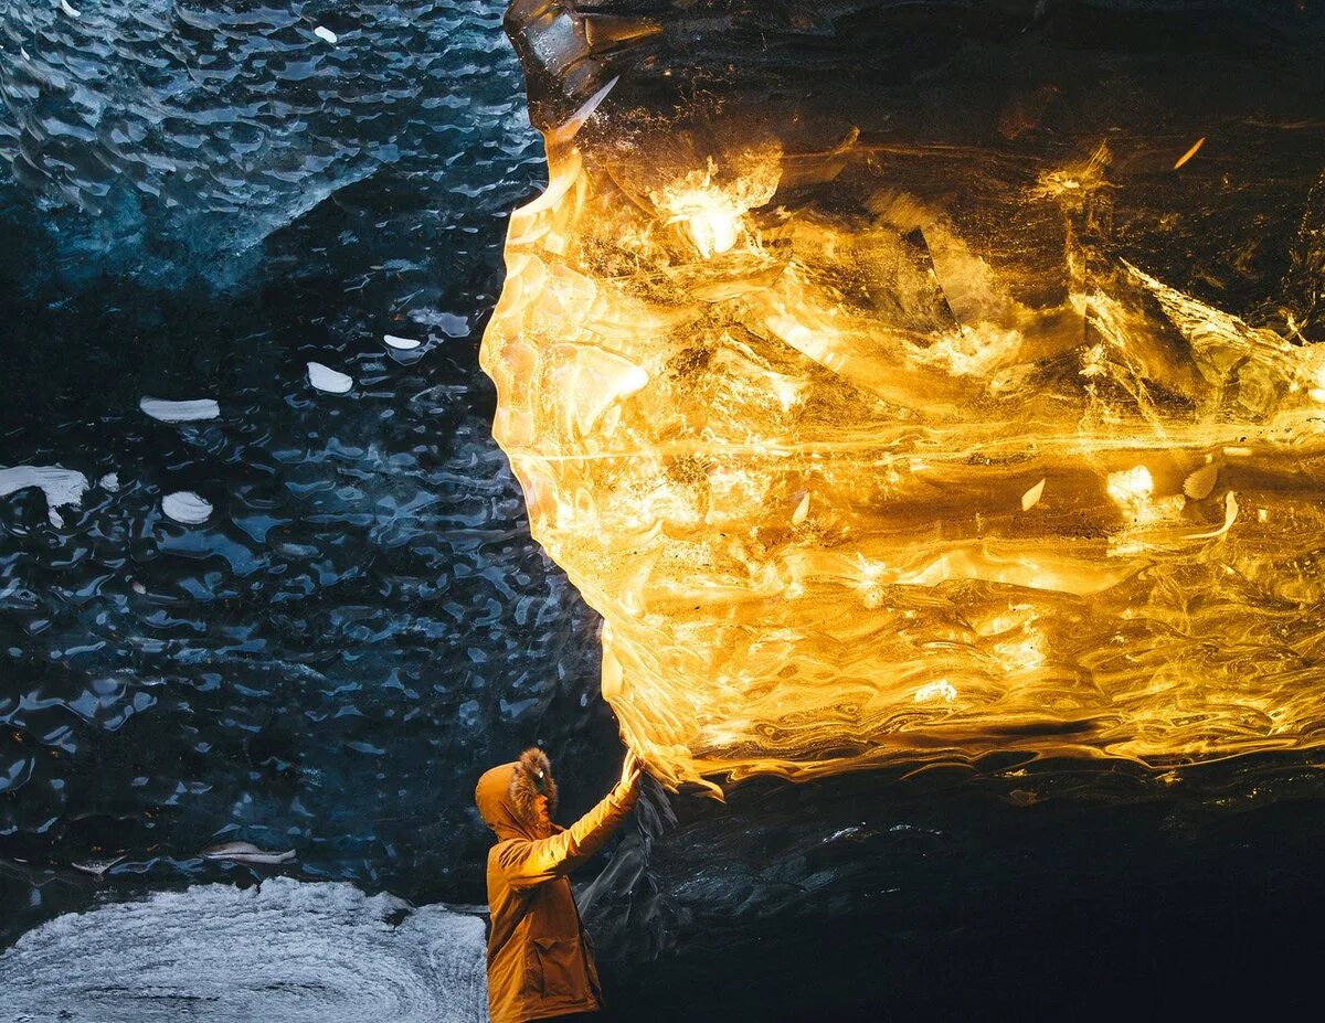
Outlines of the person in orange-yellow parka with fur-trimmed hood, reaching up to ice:
M 640 767 L 625 755 L 621 781 L 568 828 L 553 823 L 556 782 L 541 749 L 485 771 L 474 790 L 497 835 L 488 853 L 488 1011 L 492 1023 L 598 1012 L 603 991 L 566 875 L 598 852 L 631 812 Z

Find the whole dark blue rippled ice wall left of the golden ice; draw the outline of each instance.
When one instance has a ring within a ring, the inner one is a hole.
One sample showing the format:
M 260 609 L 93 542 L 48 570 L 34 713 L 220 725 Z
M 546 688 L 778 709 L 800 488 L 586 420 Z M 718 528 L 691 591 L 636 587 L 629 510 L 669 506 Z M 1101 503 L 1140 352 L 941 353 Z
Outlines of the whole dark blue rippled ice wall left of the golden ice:
M 0 500 L 0 943 L 90 897 L 73 863 L 123 855 L 117 896 L 252 872 L 197 856 L 225 841 L 476 901 L 481 770 L 541 739 L 574 812 L 619 757 L 580 702 L 595 620 L 529 538 L 476 360 L 505 217 L 543 175 L 505 4 L 53 4 L 0 0 L 0 465 L 119 488 L 61 530 L 38 490 Z M 17 180 L 83 101 L 87 166 Z M 121 122 L 144 134 L 113 170 Z M 224 168 L 236 208 L 170 154 Z M 276 221 L 216 290 L 231 235 Z M 224 415 L 167 427 L 144 395 Z M 171 519 L 175 492 L 211 517 Z

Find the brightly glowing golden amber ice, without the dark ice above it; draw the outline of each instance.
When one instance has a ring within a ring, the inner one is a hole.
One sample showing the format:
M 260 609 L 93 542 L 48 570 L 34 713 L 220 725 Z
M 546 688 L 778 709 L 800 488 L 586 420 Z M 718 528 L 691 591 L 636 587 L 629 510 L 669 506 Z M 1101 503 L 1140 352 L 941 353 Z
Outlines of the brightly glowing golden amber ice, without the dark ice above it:
M 1026 201 L 1071 228 L 1106 160 Z M 645 199 L 549 162 L 494 433 L 657 775 L 1321 742 L 1325 354 L 1072 229 L 1032 310 L 914 203 L 776 207 L 776 152 Z

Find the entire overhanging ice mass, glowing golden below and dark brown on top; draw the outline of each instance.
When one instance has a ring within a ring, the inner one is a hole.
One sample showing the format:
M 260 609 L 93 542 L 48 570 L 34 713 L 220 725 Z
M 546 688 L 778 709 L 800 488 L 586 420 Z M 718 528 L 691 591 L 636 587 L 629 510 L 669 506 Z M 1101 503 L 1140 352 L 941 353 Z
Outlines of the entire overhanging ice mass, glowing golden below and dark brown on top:
M 1320 3 L 515 3 L 482 364 L 670 783 L 1320 745 Z

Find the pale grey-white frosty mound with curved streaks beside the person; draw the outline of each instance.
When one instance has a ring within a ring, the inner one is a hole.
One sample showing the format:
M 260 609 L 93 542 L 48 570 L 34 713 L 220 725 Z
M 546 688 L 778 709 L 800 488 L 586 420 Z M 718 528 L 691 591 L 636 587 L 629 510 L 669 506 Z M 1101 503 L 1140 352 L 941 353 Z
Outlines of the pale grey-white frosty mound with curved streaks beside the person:
M 70 913 L 0 957 L 5 1023 L 480 1023 L 484 922 L 348 884 L 199 885 Z

